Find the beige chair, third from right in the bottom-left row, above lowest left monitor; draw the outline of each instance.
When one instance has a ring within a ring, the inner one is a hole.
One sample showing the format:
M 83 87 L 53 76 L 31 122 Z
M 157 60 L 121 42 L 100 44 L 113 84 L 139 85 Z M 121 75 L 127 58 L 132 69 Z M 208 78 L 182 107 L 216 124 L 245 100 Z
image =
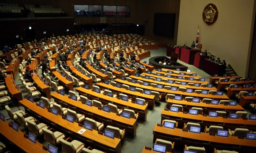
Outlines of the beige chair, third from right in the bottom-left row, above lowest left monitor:
M 53 146 L 58 145 L 60 143 L 60 139 L 66 138 L 66 135 L 64 133 L 55 131 L 53 128 L 50 128 L 50 129 L 43 128 L 42 131 L 44 133 L 45 141 L 49 142 Z

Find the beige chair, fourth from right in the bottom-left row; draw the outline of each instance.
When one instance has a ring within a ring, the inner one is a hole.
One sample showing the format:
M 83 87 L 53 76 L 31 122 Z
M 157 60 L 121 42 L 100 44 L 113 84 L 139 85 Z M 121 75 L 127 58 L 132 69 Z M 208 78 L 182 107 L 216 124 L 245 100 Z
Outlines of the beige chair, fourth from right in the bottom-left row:
M 38 124 L 36 124 L 35 122 L 38 122 Z M 43 134 L 43 130 L 42 128 L 46 128 L 48 129 L 49 126 L 44 124 L 44 123 L 40 123 L 38 120 L 27 120 L 26 123 L 28 124 L 28 131 L 30 131 L 31 133 L 33 133 L 36 136 L 42 135 Z

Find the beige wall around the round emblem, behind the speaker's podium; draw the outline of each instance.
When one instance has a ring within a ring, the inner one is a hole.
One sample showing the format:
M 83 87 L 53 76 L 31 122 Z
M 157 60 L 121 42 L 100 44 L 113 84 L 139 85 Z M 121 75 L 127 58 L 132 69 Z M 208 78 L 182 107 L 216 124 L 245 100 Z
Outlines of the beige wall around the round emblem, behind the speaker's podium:
M 218 20 L 212 26 L 203 22 L 204 7 L 213 3 Z M 226 60 L 237 75 L 248 74 L 249 56 L 255 18 L 254 0 L 181 0 L 177 45 L 196 42 L 197 28 L 202 50 Z

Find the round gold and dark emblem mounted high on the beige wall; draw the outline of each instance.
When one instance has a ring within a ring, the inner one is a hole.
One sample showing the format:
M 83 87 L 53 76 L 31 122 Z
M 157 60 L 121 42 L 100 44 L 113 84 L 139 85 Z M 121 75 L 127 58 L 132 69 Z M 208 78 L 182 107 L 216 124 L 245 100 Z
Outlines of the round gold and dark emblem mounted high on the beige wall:
M 203 9 L 203 22 L 209 26 L 213 25 L 218 19 L 218 9 L 215 4 L 207 4 Z

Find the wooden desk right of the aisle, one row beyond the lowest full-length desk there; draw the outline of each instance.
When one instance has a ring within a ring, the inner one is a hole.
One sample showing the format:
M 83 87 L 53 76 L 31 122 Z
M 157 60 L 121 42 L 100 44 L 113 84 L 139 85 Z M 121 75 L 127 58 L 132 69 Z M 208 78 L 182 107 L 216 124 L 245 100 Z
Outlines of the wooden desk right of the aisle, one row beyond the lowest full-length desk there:
M 199 123 L 201 129 L 205 126 L 210 127 L 211 125 L 222 126 L 224 129 L 230 128 L 234 130 L 237 127 L 240 128 L 248 128 L 249 130 L 256 130 L 256 120 L 243 120 L 239 119 L 229 119 L 223 117 L 204 117 L 203 115 L 192 115 L 192 114 L 184 114 L 183 112 L 171 112 L 167 110 L 162 110 L 161 114 L 161 123 L 162 120 L 176 120 L 179 122 L 178 128 L 183 128 L 184 123 L 193 122 Z

